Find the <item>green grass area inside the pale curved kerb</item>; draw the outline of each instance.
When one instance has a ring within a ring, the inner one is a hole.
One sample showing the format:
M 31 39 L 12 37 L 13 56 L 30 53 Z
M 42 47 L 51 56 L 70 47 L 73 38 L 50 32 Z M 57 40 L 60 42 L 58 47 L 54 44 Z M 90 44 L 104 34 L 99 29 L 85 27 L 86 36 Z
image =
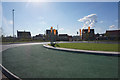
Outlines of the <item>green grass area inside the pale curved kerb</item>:
M 118 50 L 118 44 L 103 44 L 103 43 L 58 43 L 56 47 L 72 48 L 81 50 L 94 50 L 94 51 L 114 51 Z

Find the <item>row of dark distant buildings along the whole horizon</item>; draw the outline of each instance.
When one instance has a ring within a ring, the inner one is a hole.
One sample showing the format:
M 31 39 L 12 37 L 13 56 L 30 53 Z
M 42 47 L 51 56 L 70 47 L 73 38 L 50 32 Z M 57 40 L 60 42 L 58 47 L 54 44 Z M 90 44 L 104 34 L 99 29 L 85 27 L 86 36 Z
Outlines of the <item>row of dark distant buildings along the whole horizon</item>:
M 46 30 L 46 34 L 38 34 L 33 37 L 31 37 L 31 33 L 29 31 L 18 31 L 17 30 L 17 37 L 7 36 L 4 37 L 2 35 L 2 41 L 3 42 L 12 42 L 12 41 L 20 41 L 20 40 L 36 40 L 36 41 L 51 41 L 51 38 L 54 37 L 56 41 L 86 41 L 86 40 L 120 40 L 120 30 L 107 30 L 105 33 L 102 34 L 95 34 L 94 29 L 90 29 L 90 32 L 88 32 L 88 29 L 82 30 L 82 36 L 76 35 L 76 36 L 70 36 L 68 34 L 58 34 L 58 31 L 56 30 L 56 35 L 52 36 L 54 34 L 54 31 L 48 29 Z

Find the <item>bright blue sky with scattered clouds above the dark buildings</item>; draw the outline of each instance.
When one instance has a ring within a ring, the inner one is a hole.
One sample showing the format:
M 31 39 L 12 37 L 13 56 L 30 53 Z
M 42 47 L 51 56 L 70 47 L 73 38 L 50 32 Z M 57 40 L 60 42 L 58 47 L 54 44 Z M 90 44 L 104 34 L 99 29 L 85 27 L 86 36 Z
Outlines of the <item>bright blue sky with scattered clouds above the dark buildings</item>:
M 79 29 L 95 29 L 95 33 L 118 29 L 118 2 L 2 2 L 2 30 L 13 35 L 12 9 L 17 30 L 32 36 L 45 34 L 52 26 L 59 34 L 77 35 Z M 87 22 L 86 22 L 87 21 Z M 93 21 L 93 22 L 91 22 Z M 57 28 L 58 25 L 58 28 Z

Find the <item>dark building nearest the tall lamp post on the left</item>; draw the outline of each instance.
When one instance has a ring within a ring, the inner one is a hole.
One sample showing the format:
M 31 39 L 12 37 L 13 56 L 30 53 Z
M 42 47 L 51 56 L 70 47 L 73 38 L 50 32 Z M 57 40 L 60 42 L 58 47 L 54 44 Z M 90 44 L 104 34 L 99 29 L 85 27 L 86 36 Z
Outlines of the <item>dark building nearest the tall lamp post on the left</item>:
M 17 30 L 17 38 L 18 39 L 31 39 L 31 33 Z

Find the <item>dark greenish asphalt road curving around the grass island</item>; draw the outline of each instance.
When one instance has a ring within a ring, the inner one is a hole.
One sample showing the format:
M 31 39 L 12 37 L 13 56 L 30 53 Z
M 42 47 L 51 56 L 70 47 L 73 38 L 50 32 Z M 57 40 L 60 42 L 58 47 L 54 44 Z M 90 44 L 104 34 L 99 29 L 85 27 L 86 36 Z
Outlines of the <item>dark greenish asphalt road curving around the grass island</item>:
M 30 44 L 14 44 L 14 48 L 2 53 L 2 65 L 20 78 L 118 77 L 118 57 L 56 51 L 44 48 L 43 43 Z

